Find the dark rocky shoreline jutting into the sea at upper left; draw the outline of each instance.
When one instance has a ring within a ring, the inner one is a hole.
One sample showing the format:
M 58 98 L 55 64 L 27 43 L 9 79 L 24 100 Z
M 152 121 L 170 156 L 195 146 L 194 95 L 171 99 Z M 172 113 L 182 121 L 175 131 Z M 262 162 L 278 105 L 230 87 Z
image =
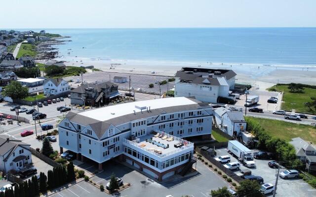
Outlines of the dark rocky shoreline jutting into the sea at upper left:
M 71 42 L 72 40 L 59 40 L 63 38 L 69 38 L 70 36 L 62 36 L 62 37 L 56 37 L 52 38 L 50 41 L 40 42 L 37 45 L 37 48 L 35 49 L 37 52 L 39 52 L 35 56 L 35 60 L 53 60 L 55 58 L 60 58 L 58 56 L 58 48 L 54 48 L 54 45 L 59 44 L 66 44 L 63 42 Z

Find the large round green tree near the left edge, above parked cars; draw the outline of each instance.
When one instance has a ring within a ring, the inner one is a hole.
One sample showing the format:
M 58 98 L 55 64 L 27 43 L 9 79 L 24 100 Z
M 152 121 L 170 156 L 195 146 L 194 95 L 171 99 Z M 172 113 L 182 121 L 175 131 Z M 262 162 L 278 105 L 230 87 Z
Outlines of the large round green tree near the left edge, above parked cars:
M 17 81 L 11 81 L 11 83 L 5 86 L 4 91 L 1 93 L 3 97 L 10 97 L 11 99 L 24 99 L 29 96 L 29 89 L 23 87 Z

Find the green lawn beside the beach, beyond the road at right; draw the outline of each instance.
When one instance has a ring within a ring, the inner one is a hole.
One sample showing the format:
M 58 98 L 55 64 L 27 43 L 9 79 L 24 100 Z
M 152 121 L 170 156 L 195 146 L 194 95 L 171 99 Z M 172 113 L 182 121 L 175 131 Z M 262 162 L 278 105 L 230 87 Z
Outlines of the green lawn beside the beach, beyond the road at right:
M 312 101 L 311 97 L 316 97 L 316 89 L 312 88 L 305 88 L 302 92 L 299 93 L 293 93 L 290 92 L 289 89 L 287 89 L 287 85 L 281 85 L 281 86 L 273 86 L 270 89 L 275 88 L 278 92 L 284 92 L 283 94 L 283 103 L 281 105 L 281 108 L 283 110 L 289 110 L 295 109 L 297 112 L 302 113 L 313 113 L 315 114 L 315 110 L 311 110 L 308 107 L 304 106 L 304 102 L 310 102 Z M 312 108 L 313 109 L 313 108 Z

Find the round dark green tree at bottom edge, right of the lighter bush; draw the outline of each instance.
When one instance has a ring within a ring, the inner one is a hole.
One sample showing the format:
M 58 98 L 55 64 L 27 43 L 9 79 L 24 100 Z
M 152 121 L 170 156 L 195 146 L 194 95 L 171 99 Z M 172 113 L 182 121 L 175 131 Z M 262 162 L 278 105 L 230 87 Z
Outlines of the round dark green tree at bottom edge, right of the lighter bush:
M 261 186 L 257 181 L 243 180 L 237 188 L 237 195 L 239 197 L 264 197 L 260 192 Z

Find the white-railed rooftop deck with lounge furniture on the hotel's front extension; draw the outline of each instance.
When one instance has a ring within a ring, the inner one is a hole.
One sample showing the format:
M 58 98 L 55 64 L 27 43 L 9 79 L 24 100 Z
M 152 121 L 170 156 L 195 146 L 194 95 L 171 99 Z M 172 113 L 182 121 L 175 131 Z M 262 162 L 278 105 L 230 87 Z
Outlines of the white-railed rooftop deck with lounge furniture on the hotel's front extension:
M 133 141 L 124 139 L 123 143 L 131 144 L 159 158 L 164 158 L 194 147 L 194 144 L 187 140 L 166 134 L 162 131 L 157 132 L 159 136 L 163 137 L 158 137 L 151 133 L 150 135 L 140 136 Z

